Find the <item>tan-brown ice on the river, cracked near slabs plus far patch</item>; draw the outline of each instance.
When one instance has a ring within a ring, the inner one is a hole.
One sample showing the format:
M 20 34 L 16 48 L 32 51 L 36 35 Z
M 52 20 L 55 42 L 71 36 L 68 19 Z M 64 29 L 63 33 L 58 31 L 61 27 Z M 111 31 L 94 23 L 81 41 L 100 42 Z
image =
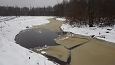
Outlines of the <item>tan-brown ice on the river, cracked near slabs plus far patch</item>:
M 62 22 L 55 19 L 49 21 L 48 24 L 34 27 L 59 32 Z M 61 36 L 56 42 L 60 46 L 49 47 L 44 51 L 65 62 L 71 52 L 69 65 L 115 65 L 115 46 L 111 42 L 82 35 Z

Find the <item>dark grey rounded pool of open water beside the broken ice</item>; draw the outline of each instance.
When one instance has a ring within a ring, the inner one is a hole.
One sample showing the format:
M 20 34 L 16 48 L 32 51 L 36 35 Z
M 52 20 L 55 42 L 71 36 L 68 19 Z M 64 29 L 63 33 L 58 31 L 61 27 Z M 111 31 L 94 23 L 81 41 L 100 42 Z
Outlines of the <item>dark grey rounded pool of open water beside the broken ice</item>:
M 47 29 L 26 29 L 16 35 L 15 41 L 26 48 L 43 47 L 44 45 L 57 45 L 54 41 L 58 34 Z

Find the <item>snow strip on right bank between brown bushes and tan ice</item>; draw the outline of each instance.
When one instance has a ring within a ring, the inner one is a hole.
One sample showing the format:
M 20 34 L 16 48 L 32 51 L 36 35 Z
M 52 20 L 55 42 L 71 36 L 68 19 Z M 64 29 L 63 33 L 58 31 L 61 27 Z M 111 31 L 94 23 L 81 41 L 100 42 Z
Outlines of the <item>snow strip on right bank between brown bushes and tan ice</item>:
M 72 27 L 69 24 L 61 26 L 63 31 L 85 36 L 95 35 L 96 38 L 115 43 L 115 26 L 112 27 Z M 110 29 L 110 30 L 107 30 Z M 109 33 L 107 33 L 109 32 Z

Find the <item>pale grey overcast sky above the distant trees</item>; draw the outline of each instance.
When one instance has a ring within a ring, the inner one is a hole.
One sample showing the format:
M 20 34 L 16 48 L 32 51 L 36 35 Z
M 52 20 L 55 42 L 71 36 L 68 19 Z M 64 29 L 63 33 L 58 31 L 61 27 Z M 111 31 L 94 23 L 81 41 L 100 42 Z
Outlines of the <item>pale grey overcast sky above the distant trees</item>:
M 0 0 L 0 6 L 43 7 L 53 6 L 62 0 Z

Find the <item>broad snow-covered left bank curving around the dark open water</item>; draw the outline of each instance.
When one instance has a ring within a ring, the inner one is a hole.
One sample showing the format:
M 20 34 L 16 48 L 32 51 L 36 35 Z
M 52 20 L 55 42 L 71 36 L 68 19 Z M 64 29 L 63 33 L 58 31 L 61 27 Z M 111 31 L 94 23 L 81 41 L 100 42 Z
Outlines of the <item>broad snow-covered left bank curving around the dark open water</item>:
M 8 17 L 4 17 L 8 18 Z M 43 55 L 15 43 L 15 36 L 27 26 L 49 23 L 52 17 L 21 16 L 11 20 L 0 17 L 0 65 L 56 65 Z

